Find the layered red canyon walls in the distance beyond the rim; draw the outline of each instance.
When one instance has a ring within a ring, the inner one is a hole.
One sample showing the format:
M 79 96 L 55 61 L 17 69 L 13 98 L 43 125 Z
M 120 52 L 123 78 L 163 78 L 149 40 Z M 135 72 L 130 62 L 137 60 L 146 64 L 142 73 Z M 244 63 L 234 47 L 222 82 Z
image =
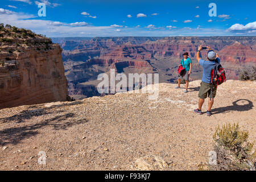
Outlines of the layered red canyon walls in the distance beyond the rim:
M 159 73 L 159 82 L 175 82 L 177 65 L 189 52 L 191 81 L 201 79 L 203 69 L 195 59 L 199 45 L 218 52 L 228 79 L 238 80 L 240 69 L 256 63 L 255 36 L 208 37 L 98 37 L 52 38 L 63 48 L 68 93 L 76 99 L 99 96 L 100 73 Z M 201 51 L 203 59 L 207 51 Z

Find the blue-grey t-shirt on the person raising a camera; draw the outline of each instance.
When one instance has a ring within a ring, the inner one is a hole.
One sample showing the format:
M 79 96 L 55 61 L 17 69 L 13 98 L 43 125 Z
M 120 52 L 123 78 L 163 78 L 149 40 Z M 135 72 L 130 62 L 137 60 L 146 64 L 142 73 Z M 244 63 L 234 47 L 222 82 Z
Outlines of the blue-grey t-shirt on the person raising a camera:
M 215 61 L 218 61 L 218 63 L 220 63 L 220 58 L 216 58 Z M 214 68 L 215 65 L 215 61 L 205 61 L 203 59 L 199 60 L 199 64 L 203 67 L 203 77 L 202 77 L 202 81 L 206 82 L 206 83 L 210 83 L 211 80 L 211 76 L 210 76 L 210 71 Z

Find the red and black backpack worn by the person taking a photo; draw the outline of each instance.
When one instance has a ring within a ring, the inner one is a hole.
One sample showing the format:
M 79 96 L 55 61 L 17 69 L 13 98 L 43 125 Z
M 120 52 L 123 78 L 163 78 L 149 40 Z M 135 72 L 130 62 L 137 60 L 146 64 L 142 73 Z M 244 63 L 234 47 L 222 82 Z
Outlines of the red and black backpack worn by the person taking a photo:
M 215 61 L 215 65 L 213 69 L 210 71 L 210 77 L 213 84 L 216 85 L 216 88 L 218 85 L 221 85 L 224 81 L 226 81 L 226 73 L 224 71 L 224 68 L 218 61 Z M 212 98 L 212 88 L 210 89 L 210 99 Z

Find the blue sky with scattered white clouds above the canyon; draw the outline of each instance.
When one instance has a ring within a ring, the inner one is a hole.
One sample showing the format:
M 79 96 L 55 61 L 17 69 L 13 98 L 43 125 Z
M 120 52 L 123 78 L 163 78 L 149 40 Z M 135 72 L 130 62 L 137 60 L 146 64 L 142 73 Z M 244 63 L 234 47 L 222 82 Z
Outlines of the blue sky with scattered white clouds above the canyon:
M 38 3 L 46 16 L 38 16 Z M 217 16 L 209 16 L 210 3 Z M 49 37 L 255 36 L 254 0 L 1 0 L 0 23 Z

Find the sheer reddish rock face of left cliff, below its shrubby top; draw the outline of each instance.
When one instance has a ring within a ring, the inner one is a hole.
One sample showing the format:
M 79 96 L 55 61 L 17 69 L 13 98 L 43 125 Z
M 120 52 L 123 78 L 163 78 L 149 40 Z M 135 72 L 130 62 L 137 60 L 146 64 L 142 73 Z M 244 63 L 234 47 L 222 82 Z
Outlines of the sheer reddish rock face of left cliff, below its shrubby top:
M 62 49 L 58 44 L 50 47 L 48 51 L 27 47 L 12 56 L 0 54 L 0 60 L 9 57 L 0 68 L 0 109 L 67 100 Z

